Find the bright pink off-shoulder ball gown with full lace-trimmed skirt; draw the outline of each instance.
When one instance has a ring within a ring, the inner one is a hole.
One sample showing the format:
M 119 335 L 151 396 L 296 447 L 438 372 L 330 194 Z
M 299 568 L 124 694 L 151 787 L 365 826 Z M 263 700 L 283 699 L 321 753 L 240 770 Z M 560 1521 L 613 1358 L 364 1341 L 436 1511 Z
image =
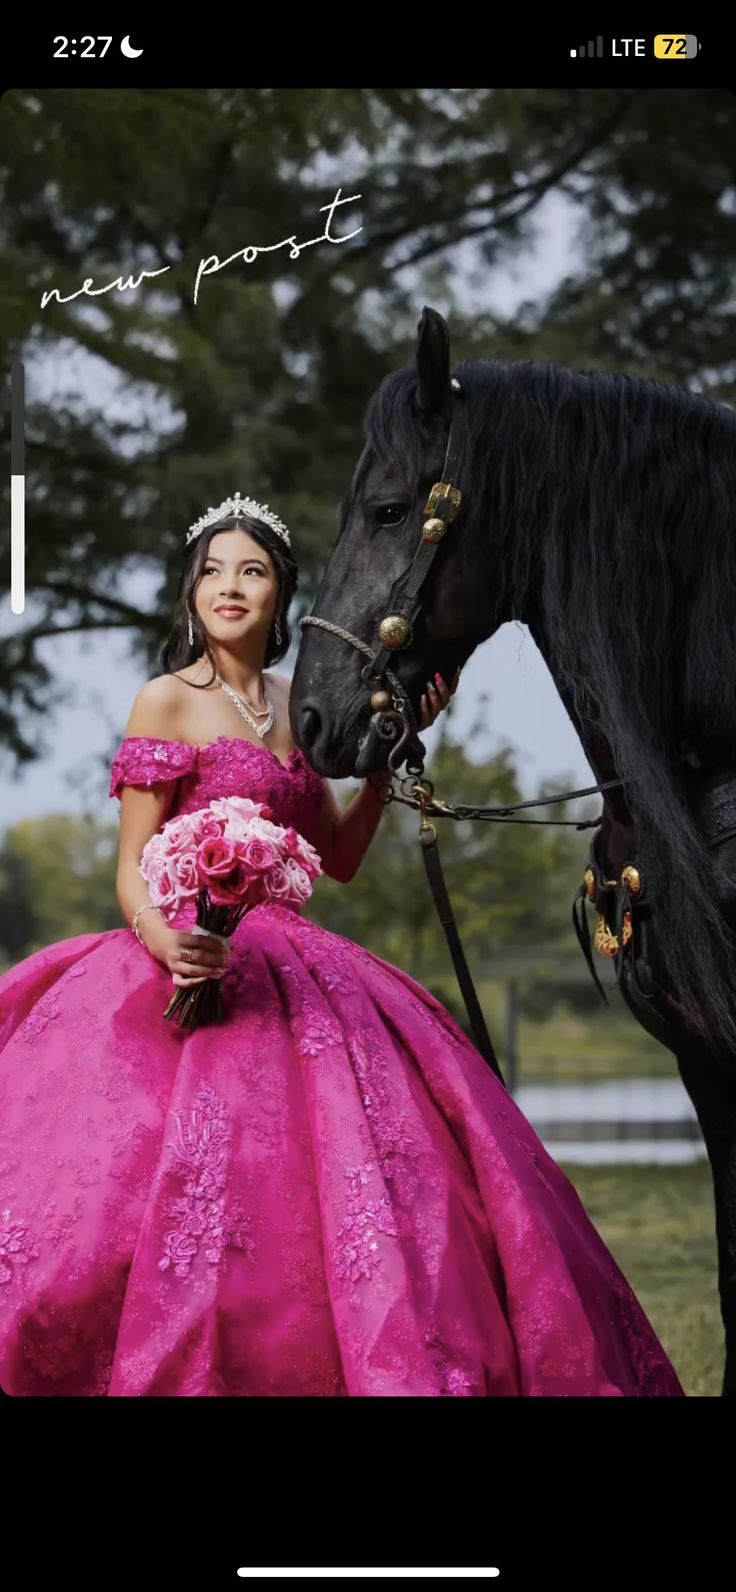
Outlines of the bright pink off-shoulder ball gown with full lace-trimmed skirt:
M 298 750 L 123 740 L 112 796 L 164 780 L 169 817 L 250 796 L 307 839 L 322 796 Z M 223 1024 L 166 1022 L 170 993 L 124 927 L 0 979 L 5 1393 L 682 1396 L 574 1188 L 406 973 L 261 904 Z

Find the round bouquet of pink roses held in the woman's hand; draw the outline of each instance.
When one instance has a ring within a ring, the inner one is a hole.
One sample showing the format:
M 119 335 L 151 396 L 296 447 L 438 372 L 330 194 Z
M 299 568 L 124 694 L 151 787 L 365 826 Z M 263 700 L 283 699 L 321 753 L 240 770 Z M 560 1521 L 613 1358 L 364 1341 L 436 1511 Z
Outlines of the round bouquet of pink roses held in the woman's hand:
M 139 872 L 153 906 L 174 919 L 196 899 L 191 933 L 228 939 L 261 901 L 301 906 L 322 874 L 314 845 L 293 828 L 271 821 L 271 809 L 245 796 L 223 796 L 198 812 L 170 818 L 143 847 Z M 221 1022 L 220 979 L 177 989 L 164 1017 L 194 1028 Z

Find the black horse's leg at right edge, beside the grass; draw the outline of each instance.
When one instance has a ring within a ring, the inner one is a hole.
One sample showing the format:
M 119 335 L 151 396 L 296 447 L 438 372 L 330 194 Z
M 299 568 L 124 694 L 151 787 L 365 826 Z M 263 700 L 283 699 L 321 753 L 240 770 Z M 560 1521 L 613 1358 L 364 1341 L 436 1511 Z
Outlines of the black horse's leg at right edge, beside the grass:
M 714 1178 L 720 1312 L 726 1340 L 723 1396 L 736 1395 L 736 1070 L 728 1078 L 688 1051 L 677 1055 Z

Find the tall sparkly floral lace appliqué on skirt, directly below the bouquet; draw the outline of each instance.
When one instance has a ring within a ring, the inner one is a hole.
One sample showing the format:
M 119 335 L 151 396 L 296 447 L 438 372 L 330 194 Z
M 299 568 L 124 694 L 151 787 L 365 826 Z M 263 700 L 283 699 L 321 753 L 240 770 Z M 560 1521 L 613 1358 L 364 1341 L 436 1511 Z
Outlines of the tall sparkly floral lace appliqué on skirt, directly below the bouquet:
M 186 1124 L 177 1111 L 172 1116 L 178 1127 L 174 1172 L 183 1176 L 183 1196 L 166 1200 L 166 1215 L 175 1221 L 164 1235 L 164 1254 L 158 1266 L 161 1272 L 174 1267 L 175 1277 L 190 1277 L 191 1266 L 204 1247 L 209 1262 L 207 1275 L 217 1278 L 225 1250 L 236 1248 L 250 1254 L 255 1248 L 247 1227 L 249 1216 L 241 1202 L 226 1212 L 225 1191 L 231 1149 L 229 1111 L 225 1100 L 207 1083 L 196 1091 L 196 1105 Z

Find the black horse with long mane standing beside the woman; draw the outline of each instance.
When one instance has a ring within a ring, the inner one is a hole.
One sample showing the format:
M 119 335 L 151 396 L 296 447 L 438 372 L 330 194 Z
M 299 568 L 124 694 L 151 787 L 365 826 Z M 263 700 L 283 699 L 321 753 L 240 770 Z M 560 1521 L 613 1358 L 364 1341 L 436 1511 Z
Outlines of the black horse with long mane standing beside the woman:
M 462 506 L 392 669 L 417 712 L 435 670 L 449 680 L 519 619 L 596 778 L 621 782 L 604 798 L 588 895 L 618 944 L 623 997 L 677 1057 L 699 1118 L 733 1395 L 736 416 L 636 376 L 492 360 L 454 374 L 451 384 L 448 328 L 425 309 L 414 366 L 371 401 L 312 613 L 378 651 L 462 404 Z M 363 669 L 344 638 L 306 629 L 292 731 L 327 777 L 386 766 Z M 628 864 L 637 872 L 621 896 Z

